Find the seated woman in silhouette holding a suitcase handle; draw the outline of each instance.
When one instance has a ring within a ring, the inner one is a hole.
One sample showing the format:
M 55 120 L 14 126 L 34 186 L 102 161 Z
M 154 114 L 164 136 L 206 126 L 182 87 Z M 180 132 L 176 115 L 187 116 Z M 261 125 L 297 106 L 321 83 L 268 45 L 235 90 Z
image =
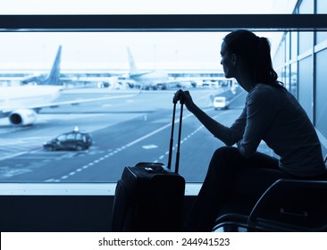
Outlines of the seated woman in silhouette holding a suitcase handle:
M 314 126 L 277 81 L 268 39 L 248 30 L 233 31 L 223 38 L 221 55 L 225 77 L 237 79 L 248 92 L 245 107 L 230 128 L 200 110 L 189 91 L 175 94 L 226 144 L 214 152 L 184 230 L 210 231 L 219 208 L 231 196 L 246 195 L 255 203 L 277 179 L 321 179 L 326 173 Z M 256 151 L 261 140 L 279 159 Z

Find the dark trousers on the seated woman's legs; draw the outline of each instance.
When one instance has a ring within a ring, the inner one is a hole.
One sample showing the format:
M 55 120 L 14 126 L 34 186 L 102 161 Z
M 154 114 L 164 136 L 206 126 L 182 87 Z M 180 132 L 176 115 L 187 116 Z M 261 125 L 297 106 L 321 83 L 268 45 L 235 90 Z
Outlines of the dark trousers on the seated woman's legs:
M 272 156 L 256 153 L 245 158 L 236 147 L 217 149 L 184 230 L 211 231 L 217 212 L 232 196 L 247 197 L 255 205 L 265 189 L 281 178 L 297 177 L 281 171 Z

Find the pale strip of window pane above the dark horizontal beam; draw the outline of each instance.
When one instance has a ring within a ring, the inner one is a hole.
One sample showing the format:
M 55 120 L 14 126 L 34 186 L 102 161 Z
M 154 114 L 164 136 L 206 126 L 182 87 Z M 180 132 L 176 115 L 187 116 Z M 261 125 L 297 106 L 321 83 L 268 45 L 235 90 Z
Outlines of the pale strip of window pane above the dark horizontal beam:
M 230 0 L 230 1 L 111 1 L 110 7 L 103 0 L 90 2 L 34 0 L 6 1 L 0 14 L 254 14 L 291 13 L 298 0 Z M 21 2 L 18 4 L 18 2 Z

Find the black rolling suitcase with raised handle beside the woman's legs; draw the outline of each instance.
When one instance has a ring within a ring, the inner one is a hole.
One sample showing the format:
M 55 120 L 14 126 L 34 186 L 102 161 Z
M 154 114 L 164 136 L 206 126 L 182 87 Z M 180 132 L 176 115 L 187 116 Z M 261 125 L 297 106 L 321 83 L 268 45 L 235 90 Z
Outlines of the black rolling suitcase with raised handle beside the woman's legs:
M 139 162 L 124 168 L 114 195 L 113 231 L 180 231 L 185 191 L 185 179 L 178 173 L 182 102 L 175 171 L 171 170 L 176 103 L 174 98 L 168 164 Z

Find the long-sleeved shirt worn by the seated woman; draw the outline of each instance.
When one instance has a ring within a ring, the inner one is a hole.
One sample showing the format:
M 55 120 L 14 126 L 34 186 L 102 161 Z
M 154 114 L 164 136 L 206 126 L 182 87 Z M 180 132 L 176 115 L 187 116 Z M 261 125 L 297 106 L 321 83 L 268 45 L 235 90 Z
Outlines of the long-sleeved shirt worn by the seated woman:
M 228 146 L 237 143 L 245 157 L 255 154 L 264 140 L 280 156 L 282 170 L 303 177 L 326 171 L 313 124 L 297 99 L 281 87 L 257 84 L 231 128 L 220 127 L 214 136 Z

